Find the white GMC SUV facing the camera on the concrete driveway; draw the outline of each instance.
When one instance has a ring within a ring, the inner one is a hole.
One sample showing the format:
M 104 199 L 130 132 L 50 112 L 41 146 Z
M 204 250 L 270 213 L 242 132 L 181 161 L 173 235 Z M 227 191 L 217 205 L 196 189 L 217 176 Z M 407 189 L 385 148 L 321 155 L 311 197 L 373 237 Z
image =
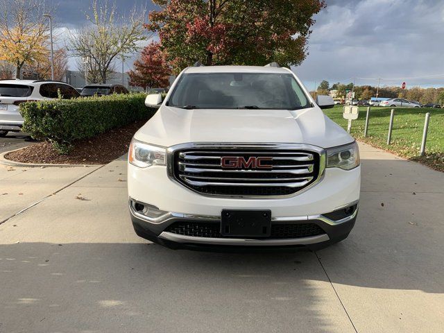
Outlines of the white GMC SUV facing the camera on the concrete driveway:
M 182 71 L 128 157 L 135 232 L 171 248 L 308 246 L 348 236 L 361 169 L 355 140 L 286 68 Z

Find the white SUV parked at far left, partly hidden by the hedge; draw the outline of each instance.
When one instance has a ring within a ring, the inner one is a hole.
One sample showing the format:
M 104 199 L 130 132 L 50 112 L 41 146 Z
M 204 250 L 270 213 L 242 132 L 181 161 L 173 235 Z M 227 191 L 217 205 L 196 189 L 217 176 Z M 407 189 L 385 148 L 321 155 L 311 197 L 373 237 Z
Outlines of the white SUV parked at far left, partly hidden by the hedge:
M 19 132 L 23 118 L 19 105 L 27 101 L 56 99 L 58 91 L 64 99 L 80 96 L 67 83 L 42 80 L 0 80 L 0 137 L 8 132 Z

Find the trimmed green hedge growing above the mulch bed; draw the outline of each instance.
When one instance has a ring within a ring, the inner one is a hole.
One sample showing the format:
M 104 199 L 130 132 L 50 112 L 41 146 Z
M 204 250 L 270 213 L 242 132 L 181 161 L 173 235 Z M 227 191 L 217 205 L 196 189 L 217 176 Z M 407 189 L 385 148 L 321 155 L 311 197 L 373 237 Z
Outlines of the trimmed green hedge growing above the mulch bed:
M 49 139 L 59 153 L 67 154 L 78 139 L 151 118 L 156 110 L 146 108 L 145 96 L 113 94 L 23 103 L 23 130 L 35 139 Z

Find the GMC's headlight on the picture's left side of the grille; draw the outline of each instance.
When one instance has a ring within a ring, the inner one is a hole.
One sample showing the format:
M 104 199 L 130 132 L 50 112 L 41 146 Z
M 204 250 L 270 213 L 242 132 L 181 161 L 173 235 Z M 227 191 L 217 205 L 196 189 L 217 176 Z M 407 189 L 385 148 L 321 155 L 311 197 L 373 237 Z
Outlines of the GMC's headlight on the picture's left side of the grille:
M 128 152 L 128 162 L 140 168 L 165 165 L 165 148 L 143 144 L 133 139 Z

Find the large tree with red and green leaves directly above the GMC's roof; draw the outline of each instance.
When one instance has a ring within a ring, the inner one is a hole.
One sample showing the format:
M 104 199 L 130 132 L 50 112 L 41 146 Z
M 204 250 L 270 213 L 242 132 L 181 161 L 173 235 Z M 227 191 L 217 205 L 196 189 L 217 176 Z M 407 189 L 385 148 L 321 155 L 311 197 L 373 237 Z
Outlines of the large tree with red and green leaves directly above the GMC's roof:
M 149 15 L 177 73 L 205 65 L 299 65 L 323 0 L 153 0 Z

